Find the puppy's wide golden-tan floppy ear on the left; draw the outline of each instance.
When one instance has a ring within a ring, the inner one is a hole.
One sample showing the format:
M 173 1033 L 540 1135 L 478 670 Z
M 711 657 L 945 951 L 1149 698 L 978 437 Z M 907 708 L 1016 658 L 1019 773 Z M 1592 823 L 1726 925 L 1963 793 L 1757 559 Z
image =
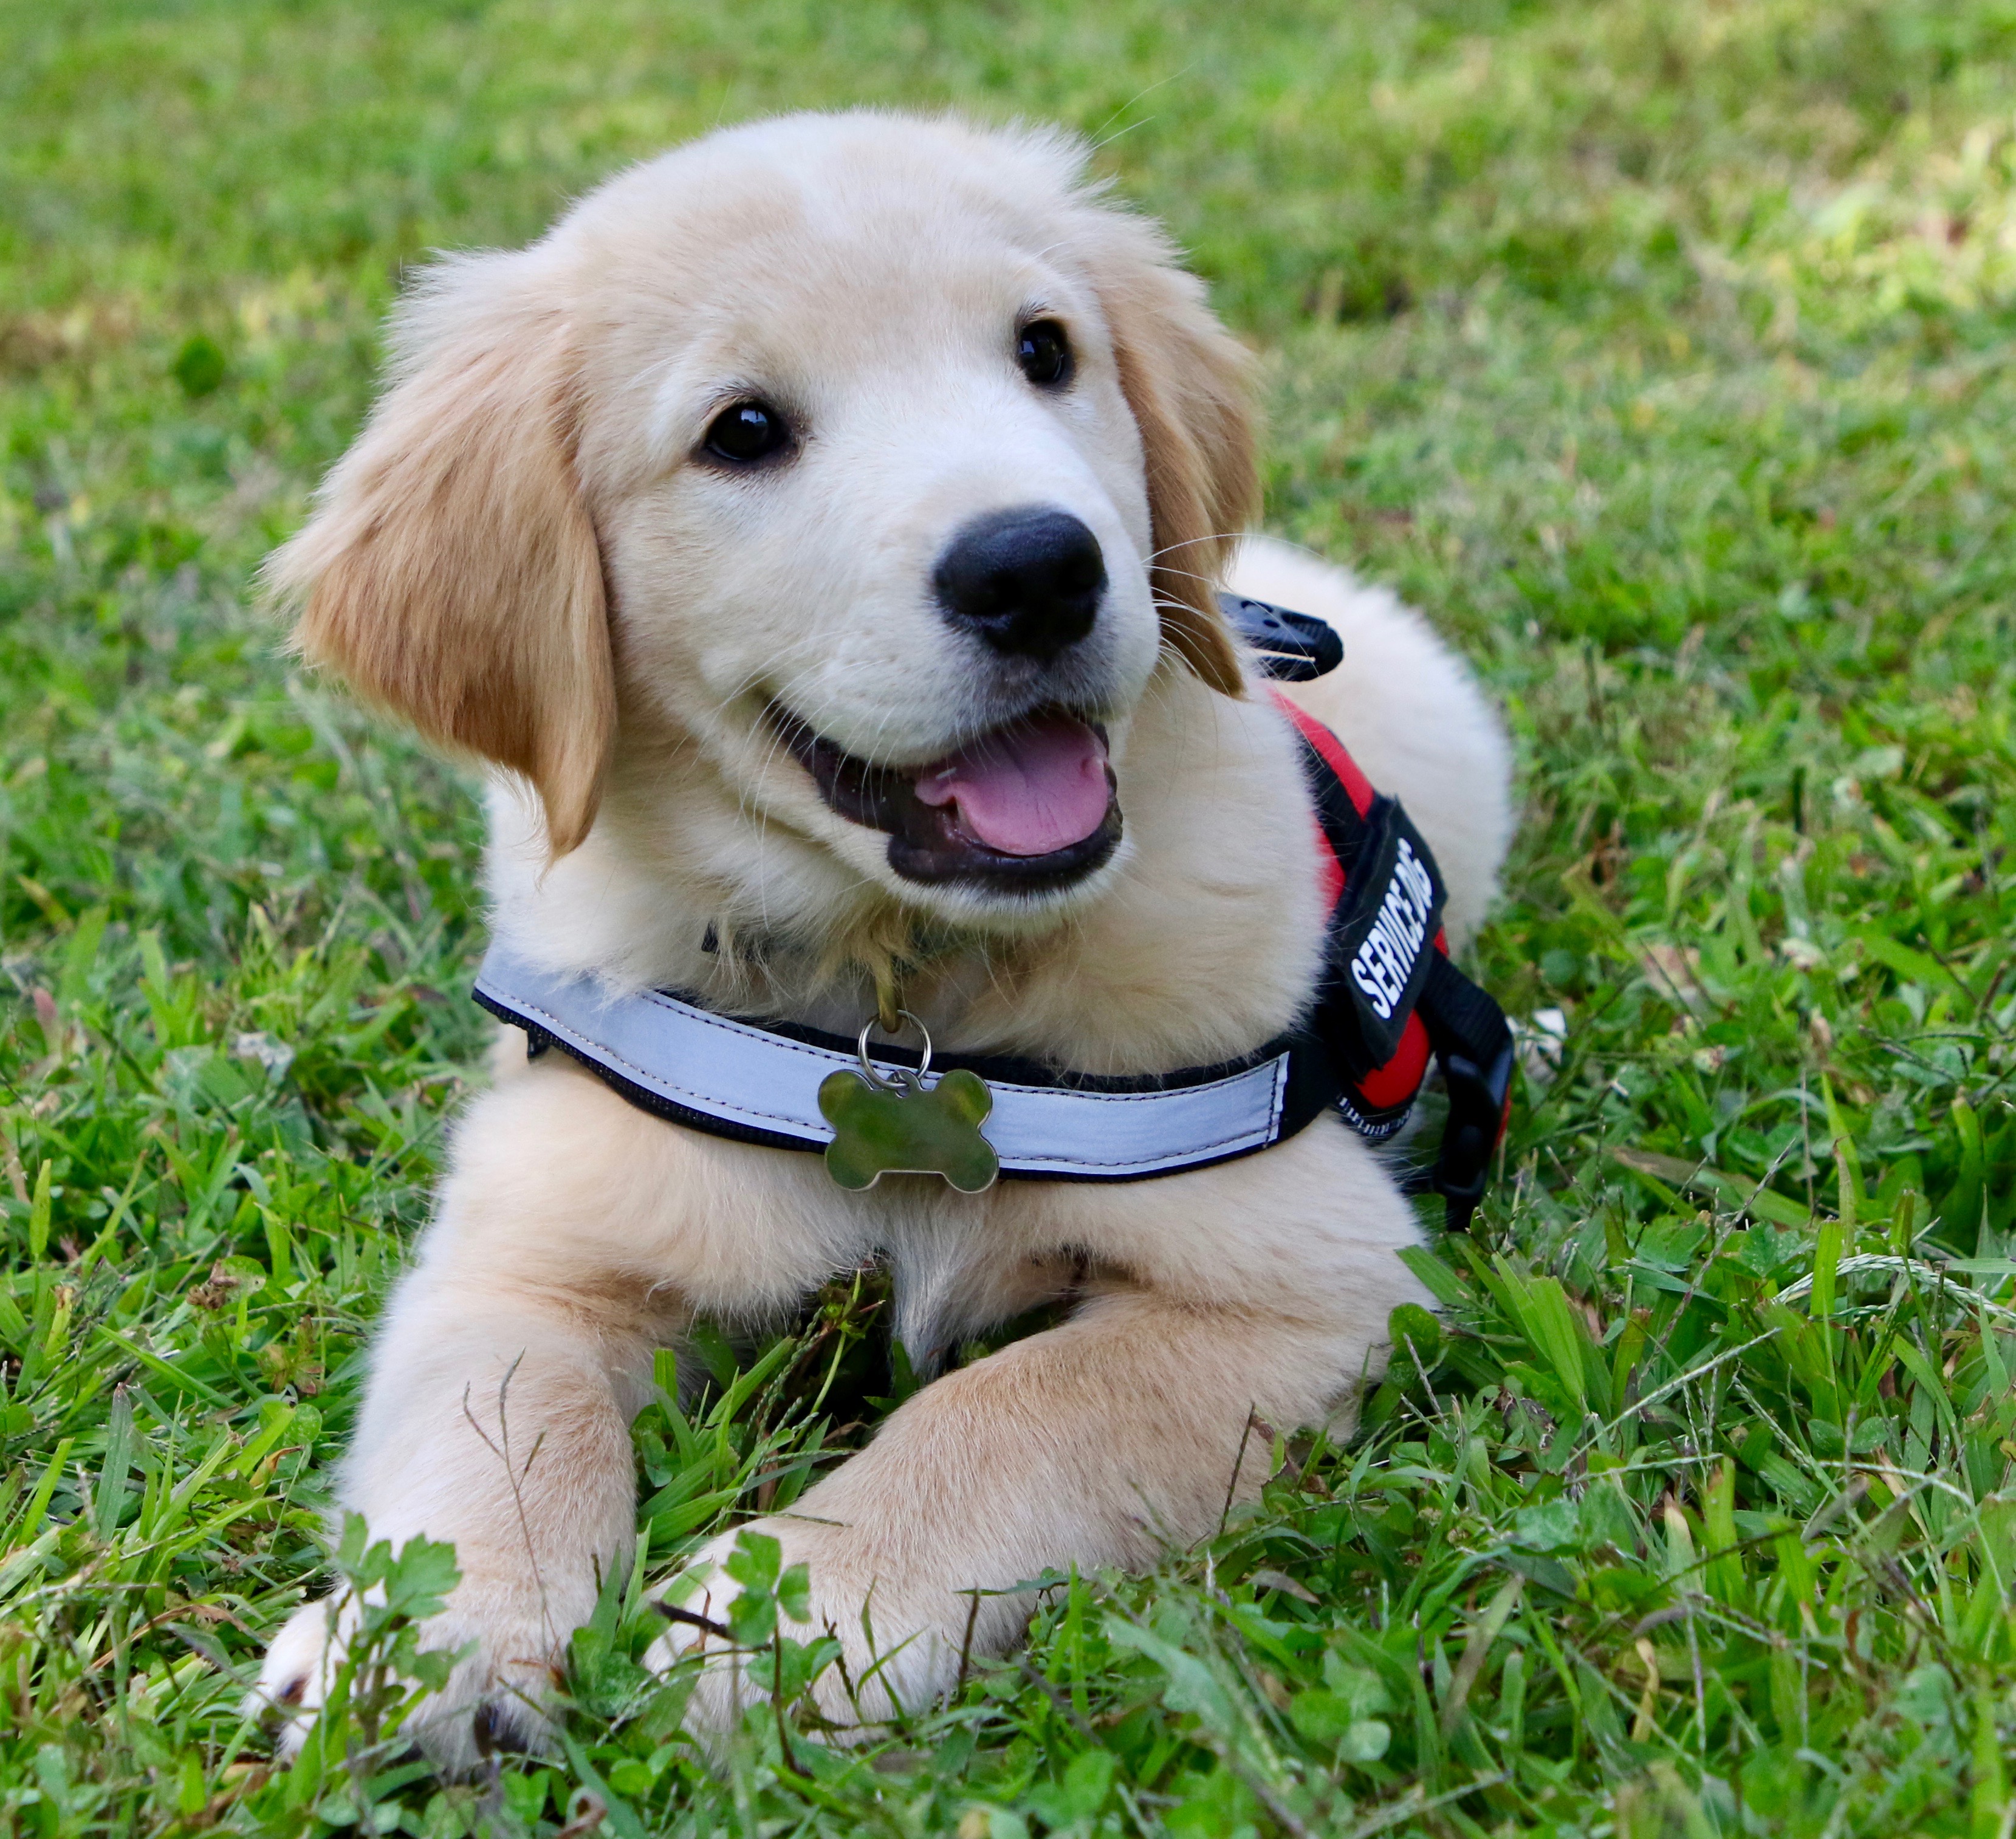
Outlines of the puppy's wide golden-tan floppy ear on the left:
M 391 387 L 266 581 L 298 609 L 304 657 L 530 780 L 558 857 L 595 823 L 615 669 L 538 256 L 452 260 L 407 300 Z

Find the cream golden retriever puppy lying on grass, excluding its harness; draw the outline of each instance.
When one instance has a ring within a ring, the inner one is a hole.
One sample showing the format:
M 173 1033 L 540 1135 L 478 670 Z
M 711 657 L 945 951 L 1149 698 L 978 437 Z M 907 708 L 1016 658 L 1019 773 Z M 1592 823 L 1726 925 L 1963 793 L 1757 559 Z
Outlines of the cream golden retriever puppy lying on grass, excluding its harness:
M 1246 355 L 1083 163 L 1040 131 L 766 121 L 413 290 L 272 581 L 306 657 L 500 768 L 488 891 L 516 962 L 849 1038 L 899 992 L 939 1055 L 1083 1075 L 1252 1055 L 1310 1004 L 1325 905 L 1294 730 L 1220 619 L 1228 569 L 1343 631 L 1345 667 L 1298 696 L 1407 805 L 1452 938 L 1476 924 L 1510 833 L 1494 716 L 1391 597 L 1240 548 Z M 1335 1113 L 1163 1180 L 847 1192 L 518 1030 L 494 1073 L 337 1482 L 373 1539 L 454 1541 L 427 1633 L 474 1647 L 427 1712 L 448 1764 L 478 1722 L 540 1734 L 633 1551 L 653 1349 L 696 1315 L 774 1319 L 883 1258 L 923 1363 L 1068 1303 L 760 1522 L 873 1674 L 859 1704 L 837 1670 L 821 1688 L 853 1720 L 952 1684 L 972 1591 L 1212 1532 L 1260 1480 L 1248 1422 L 1347 1414 L 1389 1311 L 1423 1301 L 1413 1212 Z M 730 1545 L 685 1595 L 714 1617 Z M 974 1649 L 1028 1607 L 980 1595 Z M 673 1625 L 655 1662 L 694 1639 Z M 341 1643 L 333 1603 L 272 1643 L 262 1690 L 296 1732 Z M 736 1702 L 722 1662 L 689 1716 Z

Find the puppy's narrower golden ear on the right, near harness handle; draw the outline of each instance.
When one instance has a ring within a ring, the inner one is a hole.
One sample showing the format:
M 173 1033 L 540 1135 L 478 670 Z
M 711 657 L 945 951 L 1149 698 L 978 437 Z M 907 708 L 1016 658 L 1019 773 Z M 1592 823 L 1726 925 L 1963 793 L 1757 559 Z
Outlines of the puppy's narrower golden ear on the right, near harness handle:
M 1260 508 L 1246 349 L 1141 218 L 1101 212 L 1093 286 L 1121 389 L 1141 430 L 1155 557 L 1149 581 L 1177 655 L 1226 696 L 1244 692 L 1218 583 Z

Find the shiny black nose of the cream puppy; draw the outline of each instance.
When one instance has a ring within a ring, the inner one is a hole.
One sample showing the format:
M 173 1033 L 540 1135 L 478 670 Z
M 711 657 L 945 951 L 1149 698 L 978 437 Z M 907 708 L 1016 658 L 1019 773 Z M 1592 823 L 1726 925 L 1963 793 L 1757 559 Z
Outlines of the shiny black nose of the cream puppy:
M 937 559 L 937 603 L 996 651 L 1048 663 L 1099 617 L 1107 565 L 1068 510 L 990 510 Z

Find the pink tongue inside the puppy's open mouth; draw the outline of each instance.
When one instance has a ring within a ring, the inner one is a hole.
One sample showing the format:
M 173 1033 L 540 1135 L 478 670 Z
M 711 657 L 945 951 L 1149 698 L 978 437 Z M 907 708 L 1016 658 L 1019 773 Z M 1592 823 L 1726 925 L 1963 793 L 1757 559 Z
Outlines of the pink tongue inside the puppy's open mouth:
M 998 728 L 917 774 L 925 805 L 958 803 L 988 849 L 1048 855 L 1083 843 L 1107 817 L 1107 748 L 1085 722 L 1042 716 Z

